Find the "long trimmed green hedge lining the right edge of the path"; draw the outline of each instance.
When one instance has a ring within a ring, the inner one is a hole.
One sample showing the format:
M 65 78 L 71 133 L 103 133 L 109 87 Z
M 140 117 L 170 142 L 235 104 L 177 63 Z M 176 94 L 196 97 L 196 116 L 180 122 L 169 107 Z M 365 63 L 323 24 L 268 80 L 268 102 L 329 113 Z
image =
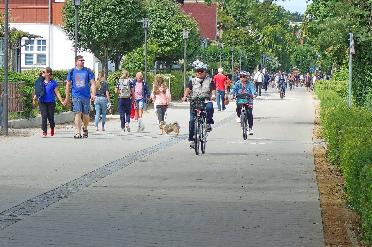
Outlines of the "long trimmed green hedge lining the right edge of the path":
M 345 177 L 349 206 L 361 215 L 365 242 L 372 244 L 372 113 L 352 105 L 334 81 L 319 81 L 321 125 L 328 140 L 328 159 Z

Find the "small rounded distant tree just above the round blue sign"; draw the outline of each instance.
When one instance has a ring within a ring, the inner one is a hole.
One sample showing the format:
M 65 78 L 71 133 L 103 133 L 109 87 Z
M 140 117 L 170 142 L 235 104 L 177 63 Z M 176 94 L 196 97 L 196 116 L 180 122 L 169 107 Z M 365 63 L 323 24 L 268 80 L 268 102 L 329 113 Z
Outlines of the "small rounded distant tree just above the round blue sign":
M 301 73 L 311 72 L 310 67 L 314 66 L 317 61 L 317 55 L 315 54 L 314 47 L 308 44 L 297 46 L 292 55 L 292 65 L 296 66 Z

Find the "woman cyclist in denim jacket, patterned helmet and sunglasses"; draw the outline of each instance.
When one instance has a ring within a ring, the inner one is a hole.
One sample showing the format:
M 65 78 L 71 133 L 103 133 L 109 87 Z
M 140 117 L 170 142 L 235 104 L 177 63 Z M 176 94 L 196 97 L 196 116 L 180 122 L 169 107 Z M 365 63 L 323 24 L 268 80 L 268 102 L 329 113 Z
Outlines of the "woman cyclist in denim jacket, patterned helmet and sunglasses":
M 248 94 L 248 95 L 253 95 L 253 98 L 257 98 L 257 92 L 256 88 L 253 86 L 251 81 L 248 81 L 249 73 L 247 71 L 242 70 L 240 72 L 240 80 L 237 81 L 234 84 L 234 88 L 231 91 L 231 100 L 234 99 L 234 95 L 236 93 L 236 97 L 238 97 L 240 94 Z M 245 108 L 247 110 L 247 120 L 248 120 L 248 125 L 249 125 L 249 131 L 248 134 L 253 135 L 253 101 L 248 100 L 248 104 L 245 105 Z M 236 119 L 237 123 L 241 123 L 240 119 L 240 111 L 241 107 L 238 102 L 236 103 L 236 113 L 238 115 L 238 118 Z

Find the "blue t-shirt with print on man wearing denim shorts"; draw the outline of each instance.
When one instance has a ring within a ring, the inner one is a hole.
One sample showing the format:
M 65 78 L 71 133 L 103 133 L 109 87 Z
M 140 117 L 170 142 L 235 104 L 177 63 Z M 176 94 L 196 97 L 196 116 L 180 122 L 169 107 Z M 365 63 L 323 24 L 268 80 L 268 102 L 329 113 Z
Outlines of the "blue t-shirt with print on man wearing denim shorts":
M 67 81 L 72 80 L 72 95 L 78 98 L 90 98 L 89 91 L 89 80 L 94 79 L 92 70 L 87 68 L 89 74 L 85 67 L 82 69 L 74 68 L 72 78 L 70 77 L 71 69 L 67 73 Z

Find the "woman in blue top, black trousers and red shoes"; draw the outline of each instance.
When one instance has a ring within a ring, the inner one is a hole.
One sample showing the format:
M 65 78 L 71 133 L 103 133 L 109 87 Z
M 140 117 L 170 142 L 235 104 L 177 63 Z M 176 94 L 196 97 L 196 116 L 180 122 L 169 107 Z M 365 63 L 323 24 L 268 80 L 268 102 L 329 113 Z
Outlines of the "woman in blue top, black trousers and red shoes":
M 41 113 L 41 129 L 43 130 L 43 134 L 41 137 L 47 137 L 47 119 L 50 124 L 50 135 L 54 136 L 54 110 L 55 110 L 55 94 L 58 97 L 58 100 L 61 101 L 63 104 L 63 100 L 60 94 L 60 91 L 58 91 L 58 85 L 57 82 L 53 79 L 53 71 L 51 68 L 47 67 L 43 69 L 42 77 L 38 80 L 41 81 L 41 83 L 44 83 L 44 95 L 43 96 L 36 96 L 33 95 L 32 98 L 32 105 L 36 105 L 36 98 L 39 98 L 39 110 Z

